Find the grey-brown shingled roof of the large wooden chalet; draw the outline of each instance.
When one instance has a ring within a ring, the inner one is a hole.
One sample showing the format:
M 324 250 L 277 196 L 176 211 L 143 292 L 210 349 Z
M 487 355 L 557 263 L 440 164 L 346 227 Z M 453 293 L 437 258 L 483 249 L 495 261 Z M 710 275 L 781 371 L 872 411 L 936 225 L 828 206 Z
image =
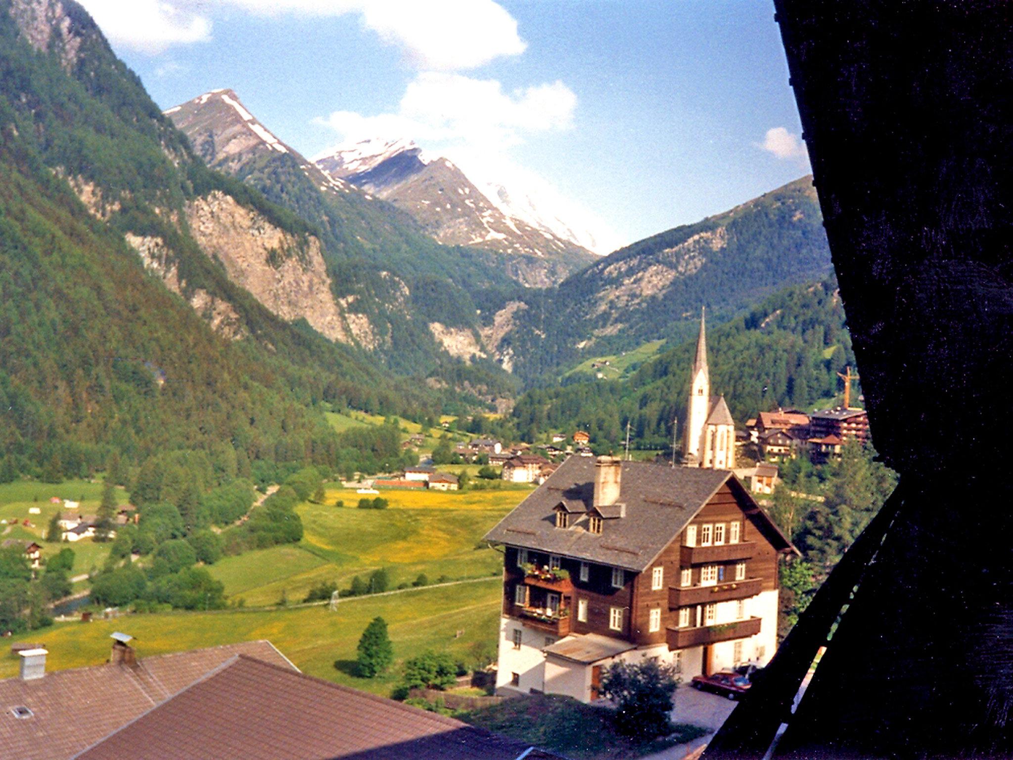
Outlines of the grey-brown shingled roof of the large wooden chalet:
M 618 501 L 624 517 L 608 520 L 601 534 L 587 530 L 587 519 L 556 528 L 555 508 L 562 502 L 572 513 L 574 500 L 590 510 L 594 497 L 595 460 L 570 457 L 537 490 L 499 521 L 487 541 L 643 572 L 682 532 L 694 515 L 725 482 L 753 512 L 778 549 L 791 544 L 756 506 L 728 470 L 670 467 L 652 462 L 623 462 Z

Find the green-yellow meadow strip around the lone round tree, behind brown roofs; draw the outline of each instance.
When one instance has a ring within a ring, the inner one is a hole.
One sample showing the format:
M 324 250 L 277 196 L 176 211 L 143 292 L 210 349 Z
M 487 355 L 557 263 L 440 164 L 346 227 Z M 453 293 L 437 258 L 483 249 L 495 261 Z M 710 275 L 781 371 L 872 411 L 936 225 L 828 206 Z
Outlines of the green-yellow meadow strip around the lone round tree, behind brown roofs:
M 108 658 L 109 634 L 114 630 L 135 636 L 141 657 L 266 638 L 305 673 L 387 695 L 399 680 L 400 663 L 406 658 L 438 650 L 468 663 L 477 648 L 494 647 L 501 593 L 498 579 L 490 578 L 461 586 L 343 600 L 335 612 L 323 606 L 131 615 L 91 623 L 58 623 L 12 640 L 44 642 L 50 652 L 48 668 L 61 670 L 103 663 Z M 359 678 L 353 667 L 356 645 L 363 629 L 378 615 L 389 626 L 395 664 L 378 678 Z M 0 656 L 0 678 L 16 674 L 17 661 L 7 654 Z

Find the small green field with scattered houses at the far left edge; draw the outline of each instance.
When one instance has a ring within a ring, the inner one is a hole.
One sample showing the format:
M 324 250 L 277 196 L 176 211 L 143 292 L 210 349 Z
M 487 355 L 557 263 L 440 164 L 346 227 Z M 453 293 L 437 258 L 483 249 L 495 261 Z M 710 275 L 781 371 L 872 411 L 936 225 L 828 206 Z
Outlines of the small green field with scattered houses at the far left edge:
M 50 520 L 57 512 L 63 511 L 62 505 L 50 504 L 50 499 L 69 499 L 80 502 L 78 513 L 94 515 L 102 498 L 102 483 L 88 480 L 67 480 L 62 483 L 40 483 L 29 480 L 17 480 L 12 483 L 0 484 L 0 520 L 6 520 L 7 525 L 0 524 L 0 540 L 19 538 L 36 541 L 43 547 L 43 558 L 52 556 L 65 546 L 74 550 L 74 569 L 72 575 L 88 573 L 92 567 L 101 566 L 109 553 L 108 544 L 94 543 L 85 538 L 75 543 L 47 543 L 43 540 Z M 116 497 L 121 504 L 127 504 L 127 492 L 116 488 Z M 28 514 L 28 510 L 37 508 L 38 515 Z M 29 525 L 23 524 L 28 520 Z M 16 524 L 15 524 L 16 523 Z

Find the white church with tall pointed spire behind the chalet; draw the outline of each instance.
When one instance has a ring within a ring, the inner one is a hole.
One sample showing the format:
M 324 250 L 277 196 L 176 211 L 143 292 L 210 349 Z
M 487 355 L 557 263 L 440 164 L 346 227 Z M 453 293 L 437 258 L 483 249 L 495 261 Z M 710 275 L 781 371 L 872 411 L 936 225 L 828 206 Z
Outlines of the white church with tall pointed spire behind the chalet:
M 707 337 L 702 312 L 696 358 L 690 378 L 683 464 L 688 467 L 730 470 L 735 466 L 735 424 L 724 396 L 710 395 Z

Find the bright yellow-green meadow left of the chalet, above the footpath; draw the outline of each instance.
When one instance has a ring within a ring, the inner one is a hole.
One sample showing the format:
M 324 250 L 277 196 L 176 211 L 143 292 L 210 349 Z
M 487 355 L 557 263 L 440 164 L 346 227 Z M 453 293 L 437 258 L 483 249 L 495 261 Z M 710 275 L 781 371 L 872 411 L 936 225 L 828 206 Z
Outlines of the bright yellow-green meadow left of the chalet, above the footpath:
M 386 510 L 356 508 L 359 495 L 329 488 L 323 505 L 297 508 L 304 536 L 298 544 L 227 557 L 210 567 L 225 593 L 249 606 L 300 602 L 314 586 L 347 588 L 387 568 L 391 583 L 431 583 L 498 575 L 502 555 L 481 538 L 529 491 L 385 490 Z M 345 507 L 334 507 L 338 500 Z

